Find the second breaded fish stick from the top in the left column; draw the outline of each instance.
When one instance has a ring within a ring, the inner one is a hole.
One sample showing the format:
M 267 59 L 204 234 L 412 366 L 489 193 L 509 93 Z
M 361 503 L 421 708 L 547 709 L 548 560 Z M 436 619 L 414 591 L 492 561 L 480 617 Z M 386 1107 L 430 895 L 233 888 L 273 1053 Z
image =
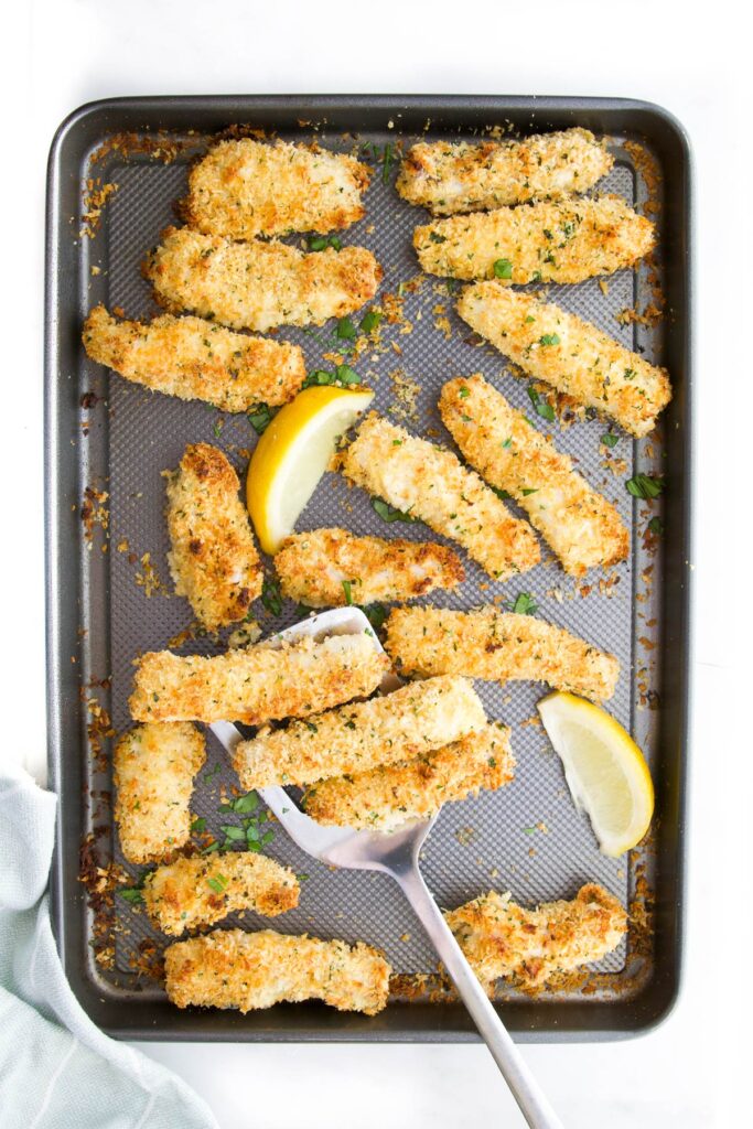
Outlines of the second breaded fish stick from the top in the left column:
M 163 233 L 143 273 L 170 313 L 190 309 L 261 333 L 352 314 L 374 297 L 382 278 L 365 247 L 305 254 L 274 239 L 233 243 L 187 227 Z

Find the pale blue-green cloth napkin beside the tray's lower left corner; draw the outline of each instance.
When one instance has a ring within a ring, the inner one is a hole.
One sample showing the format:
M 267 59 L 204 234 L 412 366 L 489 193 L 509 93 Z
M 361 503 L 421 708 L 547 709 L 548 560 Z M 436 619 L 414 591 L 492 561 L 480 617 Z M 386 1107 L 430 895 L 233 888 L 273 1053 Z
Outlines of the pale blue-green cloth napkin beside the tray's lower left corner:
M 0 773 L 0 1129 L 218 1129 L 178 1077 L 103 1034 L 63 973 L 45 893 L 56 798 Z

